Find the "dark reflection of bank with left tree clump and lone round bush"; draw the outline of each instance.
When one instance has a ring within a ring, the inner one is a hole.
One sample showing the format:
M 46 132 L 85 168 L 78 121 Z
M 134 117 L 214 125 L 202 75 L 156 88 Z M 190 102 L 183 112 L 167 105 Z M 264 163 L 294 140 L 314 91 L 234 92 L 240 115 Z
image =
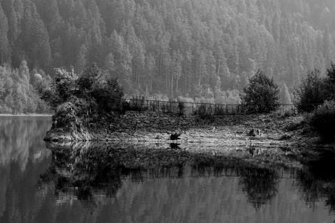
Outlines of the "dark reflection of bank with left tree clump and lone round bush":
M 94 206 L 94 197 L 114 197 L 122 185 L 122 180 L 131 179 L 135 182 L 144 182 L 151 178 L 192 178 L 192 177 L 219 177 L 236 176 L 248 201 L 256 210 L 276 196 L 278 186 L 278 174 L 275 170 L 254 167 L 244 164 L 232 168 L 232 163 L 227 162 L 220 166 L 204 164 L 197 155 L 192 159 L 190 154 L 179 153 L 179 161 L 176 158 L 169 159 L 170 154 L 160 151 L 154 158 L 145 157 L 142 153 L 148 151 L 134 151 L 132 148 L 114 150 L 114 146 L 74 146 L 65 148 L 53 147 L 52 166 L 40 176 L 40 184 L 54 185 L 54 194 L 62 197 L 75 197 L 78 200 L 87 201 Z M 166 148 L 165 148 L 166 150 Z M 182 157 L 191 157 L 188 162 L 181 162 Z M 133 162 L 137 160 L 138 167 Z M 128 159 L 128 160 L 127 160 Z M 211 157 L 204 155 L 205 160 Z M 165 160 L 163 165 L 159 160 Z M 166 162 L 170 160 L 171 162 Z M 121 163 L 120 163 L 121 162 Z M 127 166 L 128 163 L 131 163 Z M 156 165 L 154 166 L 154 163 Z

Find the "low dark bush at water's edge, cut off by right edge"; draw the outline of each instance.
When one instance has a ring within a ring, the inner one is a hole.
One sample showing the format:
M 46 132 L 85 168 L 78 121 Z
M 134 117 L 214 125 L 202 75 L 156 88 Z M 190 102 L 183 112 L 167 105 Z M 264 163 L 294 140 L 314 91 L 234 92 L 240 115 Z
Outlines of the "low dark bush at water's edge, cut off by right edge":
M 308 123 L 325 141 L 335 139 L 335 101 L 325 101 L 311 116 Z

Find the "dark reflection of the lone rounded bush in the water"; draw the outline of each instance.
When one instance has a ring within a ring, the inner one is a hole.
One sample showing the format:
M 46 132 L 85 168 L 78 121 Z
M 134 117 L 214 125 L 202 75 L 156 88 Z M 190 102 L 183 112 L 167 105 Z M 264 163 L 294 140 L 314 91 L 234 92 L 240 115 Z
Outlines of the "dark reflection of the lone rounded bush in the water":
M 278 174 L 271 169 L 244 168 L 239 172 L 240 184 L 246 193 L 248 201 L 255 209 L 271 201 L 278 192 Z

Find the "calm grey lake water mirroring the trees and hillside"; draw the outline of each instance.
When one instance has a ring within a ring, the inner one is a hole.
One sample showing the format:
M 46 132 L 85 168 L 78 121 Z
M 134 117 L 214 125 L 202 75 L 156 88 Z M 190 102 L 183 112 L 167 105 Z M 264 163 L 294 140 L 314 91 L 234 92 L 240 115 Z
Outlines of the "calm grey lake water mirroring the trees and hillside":
M 329 155 L 304 169 L 144 169 L 110 167 L 90 152 L 79 167 L 68 150 L 47 148 L 50 119 L 0 117 L 1 223 L 334 222 Z

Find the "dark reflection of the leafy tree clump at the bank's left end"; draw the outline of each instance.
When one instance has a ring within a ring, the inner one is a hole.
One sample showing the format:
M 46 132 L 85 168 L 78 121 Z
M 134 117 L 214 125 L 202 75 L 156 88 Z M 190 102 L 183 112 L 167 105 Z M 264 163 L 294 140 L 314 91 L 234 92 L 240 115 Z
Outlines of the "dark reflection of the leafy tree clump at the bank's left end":
M 96 197 L 114 197 L 122 185 L 122 169 L 98 164 L 94 157 L 85 161 L 80 162 L 69 150 L 53 151 L 52 164 L 40 175 L 39 187 L 52 184 L 58 199 L 75 197 L 89 209 L 96 206 Z

